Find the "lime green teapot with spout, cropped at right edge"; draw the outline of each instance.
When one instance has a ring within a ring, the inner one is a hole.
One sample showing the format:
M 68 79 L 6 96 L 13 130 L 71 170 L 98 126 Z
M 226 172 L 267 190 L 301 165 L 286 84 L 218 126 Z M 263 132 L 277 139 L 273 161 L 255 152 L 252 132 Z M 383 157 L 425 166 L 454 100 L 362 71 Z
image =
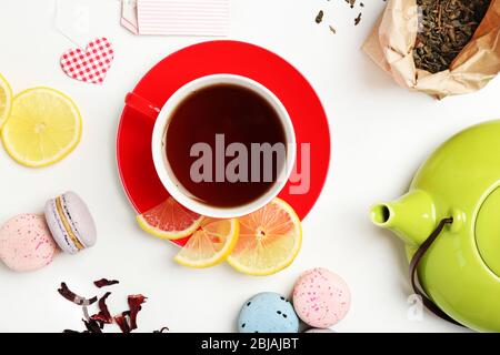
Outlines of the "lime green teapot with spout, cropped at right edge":
M 410 192 L 374 205 L 371 220 L 406 243 L 410 261 L 419 254 L 419 283 L 443 314 L 500 332 L 500 121 L 451 138 L 419 169 Z

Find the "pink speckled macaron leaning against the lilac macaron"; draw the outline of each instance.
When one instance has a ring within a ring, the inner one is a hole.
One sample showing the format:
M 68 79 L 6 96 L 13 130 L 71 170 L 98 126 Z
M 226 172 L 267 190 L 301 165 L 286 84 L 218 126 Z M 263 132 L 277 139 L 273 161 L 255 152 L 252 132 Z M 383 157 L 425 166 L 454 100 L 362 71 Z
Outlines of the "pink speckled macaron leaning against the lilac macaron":
M 57 253 L 58 246 L 41 215 L 20 214 L 0 227 L 0 260 L 13 271 L 42 268 Z

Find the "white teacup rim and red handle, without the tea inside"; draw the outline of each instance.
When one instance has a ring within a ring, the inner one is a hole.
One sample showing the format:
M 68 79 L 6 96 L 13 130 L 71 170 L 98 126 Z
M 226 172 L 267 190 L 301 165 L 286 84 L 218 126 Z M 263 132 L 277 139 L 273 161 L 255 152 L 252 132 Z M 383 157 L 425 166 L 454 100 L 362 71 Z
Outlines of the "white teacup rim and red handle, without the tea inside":
M 173 174 L 172 168 L 167 159 L 166 153 L 167 131 L 169 129 L 169 123 L 172 114 L 174 113 L 178 105 L 194 91 L 217 84 L 232 84 L 243 87 L 263 98 L 274 109 L 283 126 L 286 138 L 286 163 L 282 164 L 281 171 L 278 171 L 278 179 L 264 194 L 247 204 L 233 207 L 212 206 L 203 203 L 202 201 L 199 201 L 199 199 L 197 199 L 196 196 L 192 196 L 192 194 L 182 186 L 182 184 Z M 126 103 L 127 105 L 140 111 L 146 115 L 156 118 L 154 129 L 151 138 L 151 151 L 158 176 L 173 199 L 176 199 L 184 207 L 196 213 L 218 219 L 231 219 L 249 214 L 264 206 L 272 199 L 274 199 L 283 189 L 288 179 L 290 178 L 296 161 L 297 146 L 293 124 L 290 120 L 287 109 L 280 102 L 280 100 L 269 89 L 254 80 L 234 74 L 213 74 L 202 77 L 184 84 L 179 90 L 177 90 L 164 103 L 161 110 L 156 108 L 156 105 L 151 104 L 148 100 L 138 97 L 134 93 L 129 93 L 127 95 Z

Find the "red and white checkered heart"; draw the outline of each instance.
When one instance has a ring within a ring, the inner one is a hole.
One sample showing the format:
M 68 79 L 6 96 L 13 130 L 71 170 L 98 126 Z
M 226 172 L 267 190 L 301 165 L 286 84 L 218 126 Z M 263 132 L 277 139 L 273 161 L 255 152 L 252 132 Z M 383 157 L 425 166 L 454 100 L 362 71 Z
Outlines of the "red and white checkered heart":
M 70 49 L 61 57 L 61 68 L 73 79 L 100 84 L 106 78 L 114 58 L 111 42 L 98 38 L 87 44 L 86 50 Z

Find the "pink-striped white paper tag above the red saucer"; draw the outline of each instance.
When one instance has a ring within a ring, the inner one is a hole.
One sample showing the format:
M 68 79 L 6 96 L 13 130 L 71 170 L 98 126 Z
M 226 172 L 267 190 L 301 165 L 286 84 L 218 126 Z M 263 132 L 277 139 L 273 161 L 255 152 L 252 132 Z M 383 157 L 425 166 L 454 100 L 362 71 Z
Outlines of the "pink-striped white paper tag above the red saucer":
M 229 0 L 138 0 L 141 34 L 228 36 Z

